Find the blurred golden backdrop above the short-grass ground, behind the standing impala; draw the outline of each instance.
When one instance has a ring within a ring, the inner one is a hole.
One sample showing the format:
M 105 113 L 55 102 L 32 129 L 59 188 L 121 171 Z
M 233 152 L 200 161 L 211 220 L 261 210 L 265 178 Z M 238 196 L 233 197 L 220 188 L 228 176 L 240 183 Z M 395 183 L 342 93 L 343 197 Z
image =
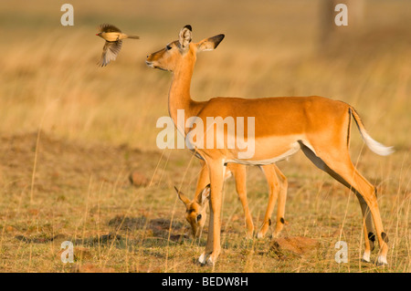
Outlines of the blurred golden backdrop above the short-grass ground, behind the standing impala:
M 376 140 L 409 146 L 411 3 L 355 1 L 62 1 L 0 4 L 0 132 L 38 129 L 58 137 L 153 149 L 167 116 L 171 76 L 145 57 L 191 24 L 194 41 L 224 33 L 198 57 L 194 99 L 320 95 L 351 103 Z M 348 26 L 335 26 L 336 3 Z M 97 62 L 110 23 L 141 36 L 107 68 Z

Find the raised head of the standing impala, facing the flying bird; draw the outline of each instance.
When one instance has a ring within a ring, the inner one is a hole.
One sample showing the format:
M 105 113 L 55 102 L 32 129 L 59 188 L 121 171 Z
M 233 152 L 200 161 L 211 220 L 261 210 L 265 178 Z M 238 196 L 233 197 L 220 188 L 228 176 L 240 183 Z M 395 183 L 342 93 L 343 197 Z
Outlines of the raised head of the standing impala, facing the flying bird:
M 224 35 L 217 35 L 205 38 L 198 43 L 193 43 L 191 41 L 192 34 L 191 26 L 184 26 L 180 30 L 178 40 L 168 43 L 163 49 L 147 56 L 145 63 L 151 68 L 174 71 L 174 68 L 182 60 L 195 61 L 196 53 L 215 49 L 224 38 Z

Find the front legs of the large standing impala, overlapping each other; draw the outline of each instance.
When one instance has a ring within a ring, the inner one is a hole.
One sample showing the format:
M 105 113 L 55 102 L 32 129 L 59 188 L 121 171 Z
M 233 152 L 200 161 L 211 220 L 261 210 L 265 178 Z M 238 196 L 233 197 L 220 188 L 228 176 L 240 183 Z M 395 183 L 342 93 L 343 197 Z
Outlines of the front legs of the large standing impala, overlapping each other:
M 200 255 L 200 264 L 216 264 L 220 254 L 220 231 L 221 231 L 221 204 L 223 202 L 224 162 L 206 161 L 210 174 L 210 221 L 208 227 L 207 244 L 205 252 Z

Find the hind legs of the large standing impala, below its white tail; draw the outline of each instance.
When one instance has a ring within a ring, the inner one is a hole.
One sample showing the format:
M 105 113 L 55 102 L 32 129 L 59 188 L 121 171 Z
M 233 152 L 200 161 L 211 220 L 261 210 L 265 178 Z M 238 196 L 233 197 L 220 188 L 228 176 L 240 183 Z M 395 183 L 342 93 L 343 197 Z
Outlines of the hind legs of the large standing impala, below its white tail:
M 311 149 L 301 143 L 301 149 L 305 155 L 321 170 L 328 172 L 335 180 L 341 182 L 343 185 L 350 188 L 358 197 L 365 220 L 364 234 L 365 236 L 365 250 L 364 260 L 370 260 L 370 253 L 372 245 L 374 247 L 374 233 L 371 217 L 374 219 L 378 243 L 380 244 L 380 255 L 378 256 L 378 264 L 387 264 L 386 255 L 388 251 L 388 237 L 386 236 L 381 221 L 380 211 L 375 195 L 374 186 L 368 182 L 353 166 L 350 159 L 348 149 L 324 149 L 321 151 L 318 147 L 313 147 L 314 151 L 321 152 L 317 156 Z

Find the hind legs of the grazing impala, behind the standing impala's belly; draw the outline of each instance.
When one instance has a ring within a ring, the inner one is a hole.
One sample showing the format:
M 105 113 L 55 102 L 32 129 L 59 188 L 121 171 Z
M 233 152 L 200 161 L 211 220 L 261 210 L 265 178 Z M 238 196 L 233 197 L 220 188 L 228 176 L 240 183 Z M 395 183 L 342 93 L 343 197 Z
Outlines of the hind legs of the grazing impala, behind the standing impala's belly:
M 279 171 L 279 168 L 275 164 L 261 166 L 261 170 L 264 171 L 267 182 L 269 183 L 269 204 L 264 215 L 264 222 L 262 223 L 258 231 L 257 237 L 262 238 L 265 234 L 267 234 L 269 225 L 271 224 L 271 214 L 278 200 L 279 204 L 277 206 L 276 229 L 272 234 L 274 237 L 276 237 L 281 232 L 285 223 L 284 213 L 285 203 L 287 199 L 287 178 L 281 171 Z

